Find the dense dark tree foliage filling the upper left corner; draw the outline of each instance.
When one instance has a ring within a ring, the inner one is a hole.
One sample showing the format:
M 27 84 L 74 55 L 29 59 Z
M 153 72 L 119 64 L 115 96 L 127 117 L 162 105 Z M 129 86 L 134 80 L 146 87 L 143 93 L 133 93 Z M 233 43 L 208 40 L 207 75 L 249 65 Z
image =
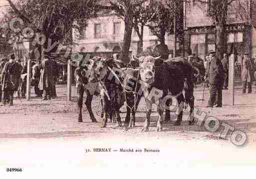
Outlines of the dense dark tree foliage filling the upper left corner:
M 12 8 L 10 13 L 20 17 L 35 32 L 45 35 L 45 49 L 49 39 L 51 44 L 72 44 L 72 30 L 81 32 L 88 19 L 96 17 L 99 10 L 96 0 L 26 0 L 19 4 L 7 1 Z M 55 52 L 57 47 L 47 52 Z

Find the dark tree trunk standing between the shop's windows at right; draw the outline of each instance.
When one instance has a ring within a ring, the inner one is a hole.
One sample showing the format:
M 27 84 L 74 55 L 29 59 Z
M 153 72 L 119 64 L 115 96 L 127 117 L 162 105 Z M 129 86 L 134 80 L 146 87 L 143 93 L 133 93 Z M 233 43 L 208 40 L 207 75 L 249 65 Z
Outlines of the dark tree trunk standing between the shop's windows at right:
M 216 56 L 222 60 L 225 52 L 225 25 L 216 24 Z

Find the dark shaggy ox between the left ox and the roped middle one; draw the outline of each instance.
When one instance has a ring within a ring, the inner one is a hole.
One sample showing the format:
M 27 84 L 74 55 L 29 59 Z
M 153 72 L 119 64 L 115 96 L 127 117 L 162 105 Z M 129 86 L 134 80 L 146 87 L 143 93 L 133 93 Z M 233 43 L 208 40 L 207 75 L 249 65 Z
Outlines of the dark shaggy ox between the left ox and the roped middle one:
M 114 68 L 114 69 L 113 69 Z M 110 119 L 116 116 L 117 126 L 122 127 L 121 117 L 119 114 L 120 108 L 124 104 L 123 88 L 121 81 L 121 73 L 116 74 L 115 69 L 120 69 L 121 66 L 113 58 L 101 59 L 92 70 L 92 75 L 89 82 L 98 82 L 100 88 L 100 95 L 103 105 L 103 120 L 101 127 L 105 128 L 107 125 L 107 117 Z M 119 76 L 119 77 L 118 77 Z

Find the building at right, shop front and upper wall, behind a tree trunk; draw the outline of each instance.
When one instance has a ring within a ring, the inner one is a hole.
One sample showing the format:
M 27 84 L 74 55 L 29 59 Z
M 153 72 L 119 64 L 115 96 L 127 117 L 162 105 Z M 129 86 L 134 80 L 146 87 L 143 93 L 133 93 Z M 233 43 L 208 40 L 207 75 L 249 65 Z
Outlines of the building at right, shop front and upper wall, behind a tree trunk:
M 213 18 L 210 15 L 211 1 L 197 0 L 184 2 L 185 54 L 196 54 L 204 58 L 210 50 L 216 50 L 216 35 Z M 244 5 L 243 8 L 241 5 Z M 246 12 L 243 11 L 246 9 Z M 233 2 L 227 12 L 226 52 L 249 53 L 256 56 L 256 3 L 244 0 Z

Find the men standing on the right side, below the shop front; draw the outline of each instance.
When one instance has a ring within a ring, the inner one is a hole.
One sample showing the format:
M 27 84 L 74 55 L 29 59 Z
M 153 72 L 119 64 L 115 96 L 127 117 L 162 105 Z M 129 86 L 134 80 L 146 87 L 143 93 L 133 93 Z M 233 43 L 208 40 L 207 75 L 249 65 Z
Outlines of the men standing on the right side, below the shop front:
M 210 83 L 210 99 L 207 107 L 222 107 L 222 90 L 228 89 L 229 80 L 229 58 L 223 55 L 222 61 L 216 57 L 216 52 L 210 52 L 205 61 L 205 79 Z M 249 54 L 244 54 L 242 58 L 243 93 L 252 93 L 252 82 L 256 79 L 256 61 L 252 61 Z

